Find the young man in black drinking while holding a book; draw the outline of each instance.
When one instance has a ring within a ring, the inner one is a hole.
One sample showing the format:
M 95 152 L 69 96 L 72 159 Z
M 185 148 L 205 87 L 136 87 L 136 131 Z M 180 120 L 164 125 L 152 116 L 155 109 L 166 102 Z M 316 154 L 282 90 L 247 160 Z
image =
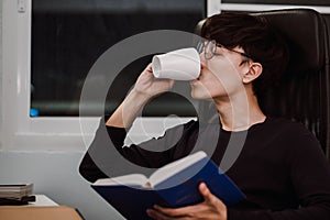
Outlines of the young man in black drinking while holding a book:
M 199 47 L 201 73 L 190 82 L 191 96 L 212 99 L 220 124 L 191 121 L 168 130 L 160 140 L 122 147 L 125 128 L 141 109 L 174 85 L 173 80 L 155 79 L 148 65 L 121 106 L 105 121 L 113 143 L 107 147 L 116 147 L 139 166 L 160 167 L 196 147 L 209 151 L 207 146 L 213 144 L 211 158 L 220 164 L 227 160 L 232 136 L 246 134 L 238 158 L 227 170 L 246 200 L 228 208 L 200 184 L 204 202 L 177 209 L 155 206 L 146 210 L 147 215 L 154 219 L 330 219 L 330 167 L 318 141 L 298 123 L 266 117 L 257 102 L 264 86 L 278 78 L 288 61 L 280 37 L 264 21 L 237 13 L 207 19 L 201 36 L 206 38 Z M 210 144 L 210 134 L 216 134 L 216 143 Z M 80 165 L 81 175 L 91 182 L 106 177 L 106 169 L 114 165 L 106 157 L 101 162 L 91 160 L 92 152 L 105 147 L 100 136 L 98 131 Z

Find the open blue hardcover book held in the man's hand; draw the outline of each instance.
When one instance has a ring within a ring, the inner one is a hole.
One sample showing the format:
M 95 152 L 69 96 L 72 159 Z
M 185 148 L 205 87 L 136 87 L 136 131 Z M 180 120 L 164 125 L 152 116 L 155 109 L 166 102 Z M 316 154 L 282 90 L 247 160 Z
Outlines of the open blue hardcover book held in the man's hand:
M 201 182 L 227 206 L 245 198 L 201 151 L 158 168 L 148 178 L 131 174 L 99 179 L 91 187 L 127 219 L 148 219 L 145 211 L 153 205 L 183 207 L 201 202 Z

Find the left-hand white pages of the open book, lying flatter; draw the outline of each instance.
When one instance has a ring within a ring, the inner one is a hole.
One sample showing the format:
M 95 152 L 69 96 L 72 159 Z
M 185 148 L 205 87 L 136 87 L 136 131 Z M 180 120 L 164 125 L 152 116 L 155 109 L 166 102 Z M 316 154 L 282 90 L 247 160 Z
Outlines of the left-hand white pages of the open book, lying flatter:
M 118 176 L 113 178 L 98 179 L 92 185 L 97 186 L 116 186 L 116 185 L 134 185 L 145 186 L 148 184 L 148 179 L 142 174 L 129 174 L 125 176 Z

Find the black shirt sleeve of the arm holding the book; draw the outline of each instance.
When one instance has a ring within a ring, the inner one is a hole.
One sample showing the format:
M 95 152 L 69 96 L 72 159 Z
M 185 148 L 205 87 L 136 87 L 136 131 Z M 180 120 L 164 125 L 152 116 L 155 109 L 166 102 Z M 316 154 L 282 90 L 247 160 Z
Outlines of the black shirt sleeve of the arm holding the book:
M 329 220 L 330 219 L 330 165 L 316 138 L 305 128 L 288 131 L 284 139 L 290 182 L 299 207 L 285 210 L 228 209 L 228 220 Z

